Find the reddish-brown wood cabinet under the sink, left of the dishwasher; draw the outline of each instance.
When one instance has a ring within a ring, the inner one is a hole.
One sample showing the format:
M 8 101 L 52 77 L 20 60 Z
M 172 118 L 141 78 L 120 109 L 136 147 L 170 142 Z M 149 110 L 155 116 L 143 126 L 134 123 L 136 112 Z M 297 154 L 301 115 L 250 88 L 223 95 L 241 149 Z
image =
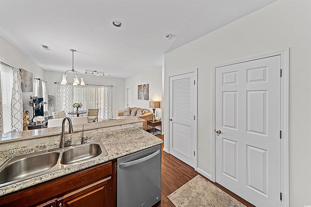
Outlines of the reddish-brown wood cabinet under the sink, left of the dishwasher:
M 114 207 L 116 161 L 0 197 L 1 207 Z

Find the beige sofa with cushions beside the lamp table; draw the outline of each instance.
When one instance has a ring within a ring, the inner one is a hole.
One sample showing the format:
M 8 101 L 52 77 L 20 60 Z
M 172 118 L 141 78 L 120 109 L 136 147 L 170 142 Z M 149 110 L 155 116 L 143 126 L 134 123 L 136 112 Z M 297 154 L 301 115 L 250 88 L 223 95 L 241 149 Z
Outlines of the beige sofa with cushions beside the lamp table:
M 126 110 L 126 109 L 124 109 Z M 154 113 L 153 112 L 150 112 L 148 111 L 147 109 L 140 109 L 140 108 L 137 108 L 137 107 L 133 107 L 133 108 L 127 108 L 128 111 L 130 111 L 130 114 L 131 115 L 124 115 L 124 110 L 119 110 L 117 111 L 117 119 L 123 119 L 123 118 L 128 118 L 128 117 L 139 117 L 139 118 L 142 118 L 144 119 L 145 121 L 142 123 L 142 128 L 144 130 L 147 130 L 147 120 L 152 120 L 152 118 L 154 117 Z M 141 111 L 142 114 L 141 115 L 137 115 L 135 113 L 135 115 L 133 115 L 134 112 L 132 111 Z M 127 111 L 125 111 L 127 112 Z M 152 128 L 151 126 L 148 126 L 148 128 Z

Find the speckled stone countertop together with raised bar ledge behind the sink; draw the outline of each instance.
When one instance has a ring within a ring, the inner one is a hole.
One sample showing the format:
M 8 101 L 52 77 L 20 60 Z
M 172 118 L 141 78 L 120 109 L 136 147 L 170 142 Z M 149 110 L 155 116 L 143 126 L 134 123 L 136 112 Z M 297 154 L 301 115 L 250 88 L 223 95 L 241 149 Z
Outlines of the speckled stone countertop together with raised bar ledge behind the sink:
M 142 129 L 142 122 L 143 119 L 140 118 L 128 118 L 85 124 L 84 136 L 88 137 L 88 141 L 101 140 L 108 153 L 107 156 L 99 159 L 95 158 L 46 175 L 40 175 L 11 185 L 3 186 L 0 188 L 0 199 L 22 189 L 27 190 L 27 188 L 37 184 L 44 184 L 53 179 L 84 171 L 85 169 L 94 166 L 96 167 L 109 161 L 112 161 L 112 164 L 115 165 L 114 160 L 117 158 L 161 144 L 163 142 L 161 139 Z M 27 131 L 14 132 L 11 136 L 2 135 L 0 140 L 0 164 L 10 157 L 58 147 L 60 135 L 57 130 L 60 131 L 59 129 L 61 129 L 61 127 L 31 130 L 36 131 L 35 136 L 33 137 L 30 136 L 29 133 L 34 132 Z M 74 131 L 75 132 L 71 134 L 72 142 L 81 142 L 82 125 L 75 125 Z M 25 136 L 22 136 L 23 133 Z M 10 137 L 11 139 L 3 139 L 3 137 Z M 69 139 L 69 134 L 66 134 L 66 139 Z M 14 144 L 15 147 L 10 147 L 10 144 Z M 115 169 L 115 166 L 112 168 Z M 112 183 L 115 183 L 115 181 Z

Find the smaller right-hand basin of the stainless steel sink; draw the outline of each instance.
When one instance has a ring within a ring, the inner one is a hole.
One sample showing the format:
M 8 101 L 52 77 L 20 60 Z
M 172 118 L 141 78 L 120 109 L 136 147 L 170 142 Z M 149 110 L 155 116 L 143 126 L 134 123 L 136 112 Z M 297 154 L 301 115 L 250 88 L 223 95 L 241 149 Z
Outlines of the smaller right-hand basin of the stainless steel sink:
M 104 147 L 103 150 L 104 150 L 103 156 L 108 155 Z M 63 152 L 60 163 L 67 165 L 77 163 L 86 159 L 95 158 L 100 154 L 102 154 L 103 150 L 99 143 L 86 143 L 76 147 L 70 147 L 69 149 Z

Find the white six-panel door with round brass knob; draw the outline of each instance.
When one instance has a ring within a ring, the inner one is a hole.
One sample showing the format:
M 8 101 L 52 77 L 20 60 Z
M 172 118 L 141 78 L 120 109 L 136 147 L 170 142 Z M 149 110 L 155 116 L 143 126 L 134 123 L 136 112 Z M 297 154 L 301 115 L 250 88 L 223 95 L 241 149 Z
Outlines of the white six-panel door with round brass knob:
M 281 205 L 280 63 L 215 70 L 216 182 L 257 207 Z

